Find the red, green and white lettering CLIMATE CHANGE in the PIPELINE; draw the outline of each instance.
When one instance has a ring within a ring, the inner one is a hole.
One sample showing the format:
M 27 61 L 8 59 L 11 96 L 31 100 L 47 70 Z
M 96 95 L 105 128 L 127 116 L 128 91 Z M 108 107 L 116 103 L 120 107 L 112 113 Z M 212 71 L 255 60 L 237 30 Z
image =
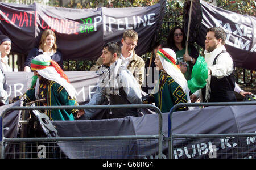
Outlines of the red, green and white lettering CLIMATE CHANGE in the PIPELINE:
M 147 27 L 155 24 L 155 13 L 143 16 L 131 16 L 130 18 L 113 18 L 110 16 L 92 16 L 80 18 L 78 20 L 58 19 L 52 16 L 40 14 L 36 11 L 26 12 L 3 12 L 0 10 L 0 20 L 17 27 L 41 27 L 42 29 L 52 29 L 52 31 L 75 34 L 91 33 L 103 24 L 104 31 L 112 32 L 113 28 L 122 31 L 125 29 L 135 29 Z M 133 23 L 129 23 L 133 21 Z

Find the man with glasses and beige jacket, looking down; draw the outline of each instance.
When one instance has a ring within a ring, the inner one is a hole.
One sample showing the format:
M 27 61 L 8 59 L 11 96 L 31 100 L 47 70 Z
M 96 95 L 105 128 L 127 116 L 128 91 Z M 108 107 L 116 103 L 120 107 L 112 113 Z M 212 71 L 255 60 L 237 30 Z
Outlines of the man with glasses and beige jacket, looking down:
M 138 33 L 134 30 L 126 30 L 123 32 L 123 38 L 121 40 L 122 43 L 122 53 L 121 59 L 122 64 L 127 67 L 131 74 L 134 75 L 135 79 L 142 86 L 144 79 L 144 60 L 135 54 L 134 48 L 137 46 L 138 42 Z M 102 66 L 102 58 L 98 58 L 96 61 L 96 65 L 93 65 L 90 68 L 90 71 L 97 71 Z

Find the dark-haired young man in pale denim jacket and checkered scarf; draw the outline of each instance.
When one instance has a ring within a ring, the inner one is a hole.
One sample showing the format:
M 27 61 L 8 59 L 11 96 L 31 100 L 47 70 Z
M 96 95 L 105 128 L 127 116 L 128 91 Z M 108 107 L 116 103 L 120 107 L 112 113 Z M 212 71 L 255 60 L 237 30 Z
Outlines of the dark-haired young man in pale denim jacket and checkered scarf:
M 86 105 L 142 104 L 141 90 L 133 74 L 122 65 L 121 47 L 117 42 L 108 42 L 102 50 L 103 65 L 98 69 L 100 75 L 98 87 L 92 99 Z M 92 119 L 94 109 L 80 110 L 77 117 L 85 116 Z M 123 118 L 126 116 L 138 117 L 138 109 L 116 108 L 110 109 L 102 118 Z

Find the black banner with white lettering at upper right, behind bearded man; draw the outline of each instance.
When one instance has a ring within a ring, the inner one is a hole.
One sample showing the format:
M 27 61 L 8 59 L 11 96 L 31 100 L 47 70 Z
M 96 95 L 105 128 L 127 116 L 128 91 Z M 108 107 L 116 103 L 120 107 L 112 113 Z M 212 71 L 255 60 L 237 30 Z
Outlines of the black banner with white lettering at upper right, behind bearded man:
M 188 30 L 190 1 L 185 2 L 184 28 Z M 241 15 L 210 5 L 207 2 L 193 2 L 190 42 L 205 48 L 207 28 L 222 27 L 226 32 L 226 50 L 232 56 L 236 67 L 256 70 L 256 18 Z M 187 33 L 187 31 L 186 31 Z

